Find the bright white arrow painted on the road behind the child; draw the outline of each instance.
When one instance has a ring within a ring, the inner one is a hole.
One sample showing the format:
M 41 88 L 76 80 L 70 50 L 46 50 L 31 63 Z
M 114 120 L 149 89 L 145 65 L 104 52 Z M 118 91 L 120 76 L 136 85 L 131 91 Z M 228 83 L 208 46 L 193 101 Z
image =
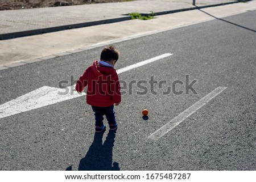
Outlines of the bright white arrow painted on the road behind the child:
M 134 65 L 123 67 L 122 69 L 117 70 L 117 73 L 120 74 L 125 71 L 129 71 L 136 67 L 149 64 L 151 62 L 166 58 L 171 55 L 172 54 L 170 53 L 162 54 L 149 60 L 145 60 L 142 62 L 138 62 Z M 86 95 L 84 92 L 82 92 L 82 94 L 78 94 L 76 91 L 73 92 L 73 90 L 71 90 L 72 88 L 74 88 L 74 86 L 66 87 L 63 89 L 48 86 L 40 87 L 32 92 L 20 96 L 19 98 L 10 100 L 7 103 L 0 105 L 0 118 L 16 115 L 20 112 L 30 111 L 32 109 L 37 109 L 40 107 L 44 107 L 47 105 L 59 103 L 61 101 L 74 99 L 82 95 Z M 69 90 L 68 93 L 67 89 Z M 64 91 L 66 91 L 67 94 L 61 94 L 64 93 Z

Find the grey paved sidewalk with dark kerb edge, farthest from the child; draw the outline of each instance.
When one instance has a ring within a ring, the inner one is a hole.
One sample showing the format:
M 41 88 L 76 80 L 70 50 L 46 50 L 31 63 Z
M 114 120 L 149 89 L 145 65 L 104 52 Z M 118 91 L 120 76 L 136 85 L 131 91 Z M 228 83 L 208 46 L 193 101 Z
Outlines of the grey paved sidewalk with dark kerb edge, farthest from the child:
M 129 20 L 131 12 L 155 15 L 196 9 L 193 0 L 138 0 L 120 3 L 7 10 L 0 13 L 0 40 Z M 197 0 L 199 7 L 236 0 Z

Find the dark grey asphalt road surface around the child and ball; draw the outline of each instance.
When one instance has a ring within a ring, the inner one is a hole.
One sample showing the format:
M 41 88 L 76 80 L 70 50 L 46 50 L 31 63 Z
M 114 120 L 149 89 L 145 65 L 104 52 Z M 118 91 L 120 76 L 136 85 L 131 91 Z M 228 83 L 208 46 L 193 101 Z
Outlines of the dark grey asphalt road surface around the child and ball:
M 94 135 L 94 116 L 85 98 L 1 118 L 1 170 L 256 170 L 256 11 L 117 43 L 115 66 L 173 55 L 126 71 L 119 79 L 166 81 L 147 92 L 122 96 L 115 107 L 117 132 Z M 232 22 L 228 23 L 228 22 Z M 75 81 L 102 48 L 2 70 L 1 103 L 42 86 Z M 197 80 L 185 94 L 189 83 Z M 163 95 L 174 81 L 181 95 Z M 158 141 L 148 139 L 217 87 L 223 92 Z M 151 87 L 152 88 L 152 87 Z M 141 115 L 149 111 L 148 119 Z

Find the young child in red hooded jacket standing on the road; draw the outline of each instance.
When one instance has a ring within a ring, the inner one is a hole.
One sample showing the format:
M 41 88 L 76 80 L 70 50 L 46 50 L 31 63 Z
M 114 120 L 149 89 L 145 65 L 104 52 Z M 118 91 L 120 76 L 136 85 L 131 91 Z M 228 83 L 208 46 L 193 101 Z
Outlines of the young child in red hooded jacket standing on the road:
M 119 51 L 113 46 L 105 46 L 101 52 L 100 61 L 94 61 L 77 80 L 76 91 L 87 88 L 86 103 L 92 105 L 95 115 L 95 130 L 106 129 L 103 123 L 104 115 L 108 120 L 110 130 L 117 129 L 114 104 L 121 102 L 120 84 L 114 65 L 119 57 Z

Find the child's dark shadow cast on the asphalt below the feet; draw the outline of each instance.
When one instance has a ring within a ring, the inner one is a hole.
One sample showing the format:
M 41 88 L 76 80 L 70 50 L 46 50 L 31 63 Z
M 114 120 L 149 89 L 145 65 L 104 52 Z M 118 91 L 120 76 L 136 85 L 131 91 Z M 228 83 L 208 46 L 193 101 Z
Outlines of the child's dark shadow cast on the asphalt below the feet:
M 117 162 L 113 163 L 113 147 L 116 130 L 109 130 L 102 144 L 104 132 L 95 133 L 94 140 L 85 157 L 80 160 L 79 171 L 119 171 Z

